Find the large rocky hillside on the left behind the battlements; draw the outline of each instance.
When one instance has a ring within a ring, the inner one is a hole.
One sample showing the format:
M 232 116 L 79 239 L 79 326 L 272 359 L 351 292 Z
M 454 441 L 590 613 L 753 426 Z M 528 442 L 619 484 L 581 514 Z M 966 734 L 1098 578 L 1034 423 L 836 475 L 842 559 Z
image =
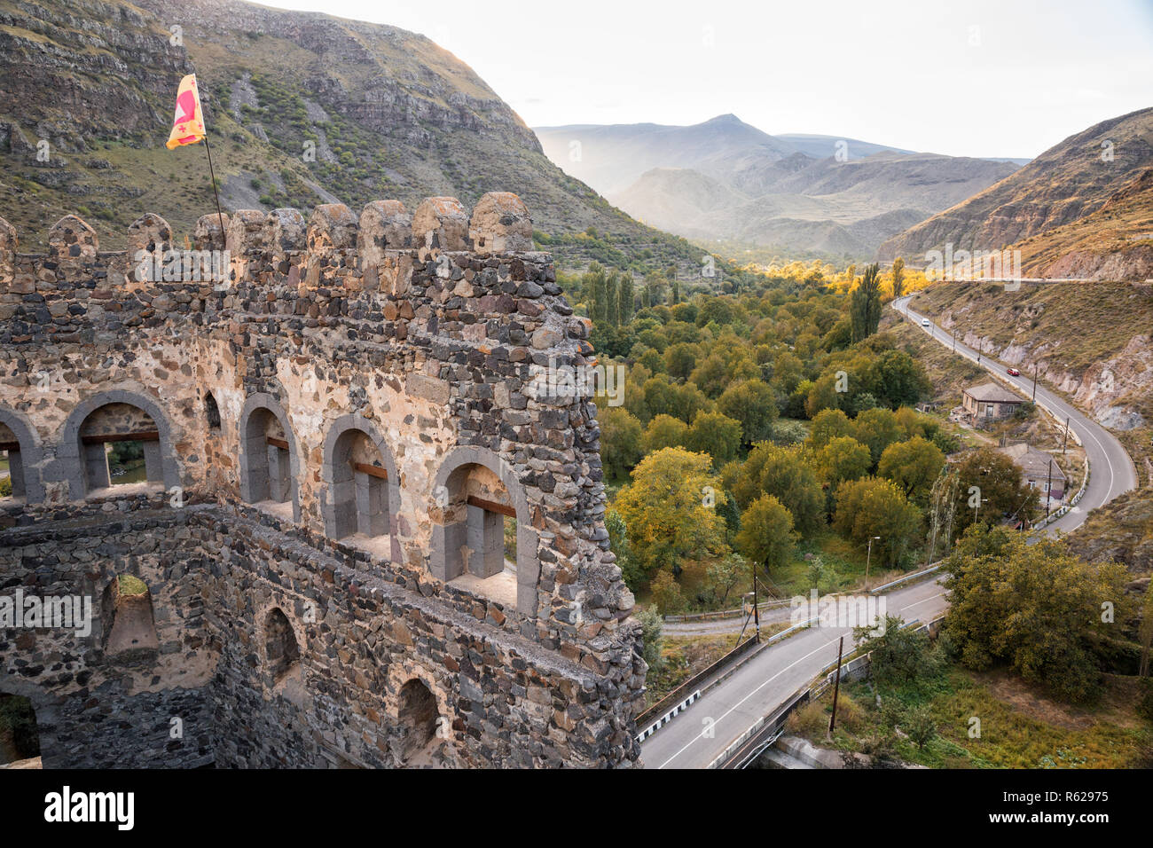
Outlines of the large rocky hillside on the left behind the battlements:
M 540 231 L 595 228 L 598 240 L 572 248 L 576 262 L 581 249 L 627 262 L 642 253 L 632 245 L 657 267 L 700 261 L 563 173 L 484 81 L 428 38 L 240 0 L 0 0 L 0 215 L 24 249 L 69 211 L 108 247 L 144 211 L 178 233 L 210 211 L 203 145 L 164 147 L 176 84 L 194 70 L 229 209 L 412 207 L 432 195 L 470 204 L 510 190 Z

